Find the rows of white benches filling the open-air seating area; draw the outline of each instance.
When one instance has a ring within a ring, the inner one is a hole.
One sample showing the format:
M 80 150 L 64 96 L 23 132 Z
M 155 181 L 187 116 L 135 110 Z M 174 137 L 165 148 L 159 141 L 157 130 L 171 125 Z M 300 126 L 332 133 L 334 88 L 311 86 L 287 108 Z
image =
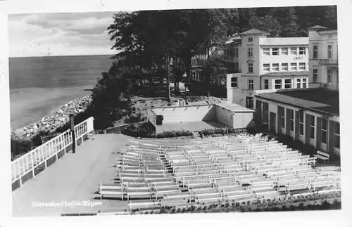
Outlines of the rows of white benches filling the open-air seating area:
M 337 167 L 315 168 L 315 157 L 262 134 L 136 138 L 116 161 L 117 181 L 99 194 L 127 200 L 130 212 L 340 190 Z

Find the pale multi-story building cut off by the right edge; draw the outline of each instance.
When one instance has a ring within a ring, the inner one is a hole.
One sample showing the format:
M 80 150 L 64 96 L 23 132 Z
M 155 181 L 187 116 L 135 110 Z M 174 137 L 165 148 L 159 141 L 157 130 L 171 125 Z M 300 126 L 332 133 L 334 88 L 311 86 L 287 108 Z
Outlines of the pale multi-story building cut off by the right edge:
M 314 26 L 309 28 L 309 83 L 339 89 L 339 56 L 337 30 Z

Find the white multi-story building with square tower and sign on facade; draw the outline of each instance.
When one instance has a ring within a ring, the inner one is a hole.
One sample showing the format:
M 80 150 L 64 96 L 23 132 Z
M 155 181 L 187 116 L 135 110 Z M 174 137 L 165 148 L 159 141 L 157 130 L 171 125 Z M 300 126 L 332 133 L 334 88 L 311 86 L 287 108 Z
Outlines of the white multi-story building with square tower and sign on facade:
M 253 108 L 254 90 L 308 87 L 308 37 L 269 38 L 256 29 L 240 37 L 241 72 L 227 74 L 227 100 Z

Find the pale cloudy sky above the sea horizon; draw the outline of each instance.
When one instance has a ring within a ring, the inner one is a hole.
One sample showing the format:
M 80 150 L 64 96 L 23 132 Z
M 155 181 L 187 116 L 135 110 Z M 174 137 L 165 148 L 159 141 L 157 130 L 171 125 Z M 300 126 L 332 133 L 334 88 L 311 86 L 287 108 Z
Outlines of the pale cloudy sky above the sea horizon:
M 8 15 L 10 57 L 114 54 L 113 13 Z

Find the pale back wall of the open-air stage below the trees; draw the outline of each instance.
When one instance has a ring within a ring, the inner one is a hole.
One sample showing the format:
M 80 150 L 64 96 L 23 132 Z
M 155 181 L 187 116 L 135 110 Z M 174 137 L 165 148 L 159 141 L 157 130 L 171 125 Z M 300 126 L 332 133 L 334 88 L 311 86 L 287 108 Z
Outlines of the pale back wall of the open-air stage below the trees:
M 187 105 L 177 107 L 153 108 L 155 115 L 163 115 L 163 122 L 206 121 L 215 117 L 213 105 Z

